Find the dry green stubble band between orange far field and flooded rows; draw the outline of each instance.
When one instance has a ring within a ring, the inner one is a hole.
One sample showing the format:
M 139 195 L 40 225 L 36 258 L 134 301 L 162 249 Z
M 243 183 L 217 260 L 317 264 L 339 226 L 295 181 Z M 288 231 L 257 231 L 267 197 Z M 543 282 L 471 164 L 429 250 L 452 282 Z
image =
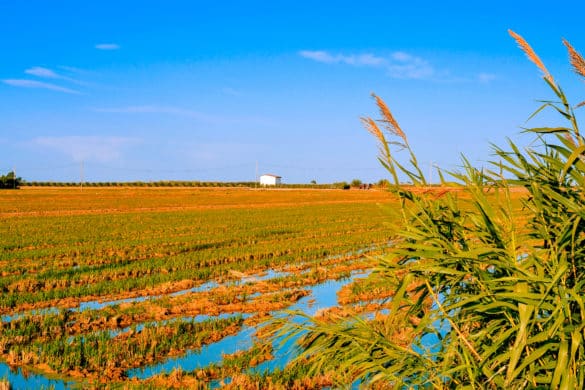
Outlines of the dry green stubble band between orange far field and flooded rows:
M 17 217 L 0 225 L 0 310 L 318 262 L 384 244 L 375 204 Z

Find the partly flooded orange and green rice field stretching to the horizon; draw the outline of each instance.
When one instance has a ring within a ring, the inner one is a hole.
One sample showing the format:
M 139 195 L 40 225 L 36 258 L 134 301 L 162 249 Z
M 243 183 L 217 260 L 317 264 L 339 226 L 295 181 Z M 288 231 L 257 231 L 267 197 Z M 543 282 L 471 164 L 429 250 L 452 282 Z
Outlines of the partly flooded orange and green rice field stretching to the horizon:
M 392 204 L 383 190 L 0 192 L 0 357 L 82 385 L 297 380 L 258 324 L 355 302 Z

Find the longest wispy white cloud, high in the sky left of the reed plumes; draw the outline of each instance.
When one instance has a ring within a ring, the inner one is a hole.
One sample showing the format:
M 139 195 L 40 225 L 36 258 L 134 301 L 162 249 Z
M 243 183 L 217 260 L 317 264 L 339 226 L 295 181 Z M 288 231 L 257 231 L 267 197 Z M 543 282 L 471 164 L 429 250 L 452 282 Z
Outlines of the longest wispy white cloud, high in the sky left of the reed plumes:
M 299 52 L 299 55 L 325 64 L 345 64 L 386 69 L 390 77 L 399 79 L 430 79 L 436 73 L 427 60 L 402 51 L 394 52 L 387 57 L 372 53 L 332 54 L 322 50 L 303 50 Z

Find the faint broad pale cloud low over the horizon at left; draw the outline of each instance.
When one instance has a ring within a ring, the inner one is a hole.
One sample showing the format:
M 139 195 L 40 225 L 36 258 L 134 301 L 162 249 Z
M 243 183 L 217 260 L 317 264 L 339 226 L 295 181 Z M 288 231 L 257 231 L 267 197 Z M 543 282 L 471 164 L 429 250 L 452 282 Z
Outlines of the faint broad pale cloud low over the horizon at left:
M 103 136 L 37 137 L 32 140 L 35 146 L 56 150 L 74 161 L 101 163 L 119 160 L 125 148 L 139 142 L 135 138 Z

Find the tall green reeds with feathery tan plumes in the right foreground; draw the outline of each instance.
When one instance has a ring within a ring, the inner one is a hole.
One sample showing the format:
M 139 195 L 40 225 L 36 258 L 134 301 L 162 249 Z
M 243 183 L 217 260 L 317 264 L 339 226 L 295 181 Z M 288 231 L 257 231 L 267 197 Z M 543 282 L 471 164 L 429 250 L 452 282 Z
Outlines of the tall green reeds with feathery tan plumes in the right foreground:
M 363 123 L 379 141 L 403 215 L 372 276 L 395 285 L 390 314 L 281 320 L 283 333 L 305 335 L 295 364 L 396 388 L 585 386 L 585 137 L 540 58 L 510 34 L 554 95 L 535 114 L 551 109 L 563 122 L 528 129 L 535 141 L 526 149 L 512 141 L 494 147 L 491 169 L 463 158 L 461 172 L 440 172 L 442 184 L 459 190 L 437 198 L 399 185 L 402 176 L 417 186 L 427 181 L 405 133 L 374 96 L 382 118 Z M 585 60 L 563 43 L 585 77 Z M 512 195 L 518 188 L 527 193 L 522 207 Z

